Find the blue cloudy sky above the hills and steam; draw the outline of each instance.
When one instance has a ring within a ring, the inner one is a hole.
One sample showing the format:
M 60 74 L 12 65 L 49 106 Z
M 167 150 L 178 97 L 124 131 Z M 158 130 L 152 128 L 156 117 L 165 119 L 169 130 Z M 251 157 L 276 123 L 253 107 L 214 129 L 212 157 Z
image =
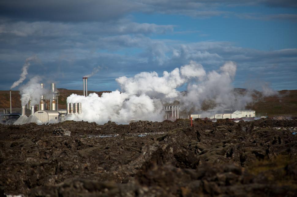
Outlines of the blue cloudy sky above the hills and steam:
M 231 60 L 234 87 L 297 89 L 296 32 L 295 0 L 0 0 L 0 89 L 31 56 L 23 84 L 39 75 L 82 89 L 100 68 L 88 89 L 112 91 L 120 76 Z

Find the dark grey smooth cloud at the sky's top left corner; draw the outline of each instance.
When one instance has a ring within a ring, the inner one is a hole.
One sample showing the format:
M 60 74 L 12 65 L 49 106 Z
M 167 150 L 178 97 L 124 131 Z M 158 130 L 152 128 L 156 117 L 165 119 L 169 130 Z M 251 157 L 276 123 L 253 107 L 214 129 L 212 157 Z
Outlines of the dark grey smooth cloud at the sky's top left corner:
M 138 8 L 138 4 L 127 0 L 13 0 L 0 2 L 0 16 L 38 21 L 106 21 Z

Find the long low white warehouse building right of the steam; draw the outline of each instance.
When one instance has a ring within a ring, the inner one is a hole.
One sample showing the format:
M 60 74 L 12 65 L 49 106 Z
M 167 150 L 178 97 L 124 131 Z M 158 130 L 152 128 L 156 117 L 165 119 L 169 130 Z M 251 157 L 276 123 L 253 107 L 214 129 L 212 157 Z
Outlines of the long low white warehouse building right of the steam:
M 224 109 L 224 110 L 208 110 L 198 111 L 191 114 L 193 119 L 195 118 L 210 118 L 210 119 L 225 119 L 225 118 L 245 118 L 255 117 L 256 111 L 253 110 L 236 110 L 236 109 Z

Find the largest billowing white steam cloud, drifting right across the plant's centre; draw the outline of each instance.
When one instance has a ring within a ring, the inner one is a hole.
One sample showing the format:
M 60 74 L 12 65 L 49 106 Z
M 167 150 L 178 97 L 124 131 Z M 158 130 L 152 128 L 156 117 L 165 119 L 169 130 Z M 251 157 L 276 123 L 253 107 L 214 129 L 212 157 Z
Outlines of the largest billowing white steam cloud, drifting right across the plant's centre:
M 194 61 L 175 68 L 170 73 L 141 72 L 134 77 L 116 79 L 120 91 L 89 94 L 88 97 L 72 94 L 68 103 L 81 102 L 82 113 L 68 116 L 67 120 L 95 121 L 98 124 L 108 120 L 127 123 L 130 120 L 162 121 L 162 103 L 178 100 L 184 108 L 201 109 L 203 102 L 211 102 L 215 109 L 245 107 L 253 101 L 252 91 L 246 94 L 234 92 L 232 81 L 236 73 L 236 63 L 226 62 L 218 71 L 206 73 L 203 66 Z M 176 88 L 187 84 L 187 93 Z

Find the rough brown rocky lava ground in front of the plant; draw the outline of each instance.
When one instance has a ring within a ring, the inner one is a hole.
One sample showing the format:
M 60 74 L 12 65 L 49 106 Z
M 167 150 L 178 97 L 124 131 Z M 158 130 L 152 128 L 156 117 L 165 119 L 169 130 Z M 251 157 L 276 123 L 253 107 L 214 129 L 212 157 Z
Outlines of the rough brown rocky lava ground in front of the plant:
M 193 122 L 0 125 L 0 195 L 297 196 L 297 120 Z

